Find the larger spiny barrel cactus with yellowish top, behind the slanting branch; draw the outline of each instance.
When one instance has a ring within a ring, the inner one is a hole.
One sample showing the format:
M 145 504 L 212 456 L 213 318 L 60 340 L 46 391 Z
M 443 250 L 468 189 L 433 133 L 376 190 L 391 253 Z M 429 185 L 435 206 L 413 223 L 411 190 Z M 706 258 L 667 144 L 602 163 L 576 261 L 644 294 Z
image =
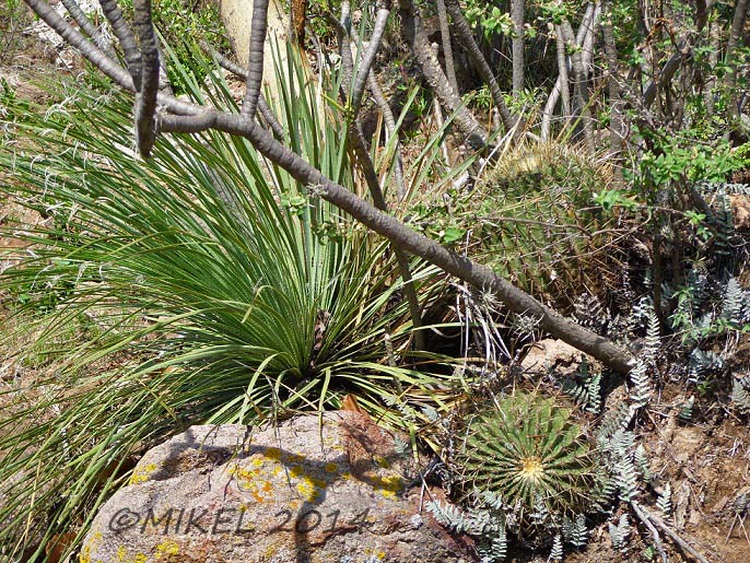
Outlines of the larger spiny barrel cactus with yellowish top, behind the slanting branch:
M 414 222 L 532 294 L 572 306 L 582 288 L 596 294 L 619 280 L 608 226 L 594 204 L 611 169 L 559 143 L 501 152 L 473 190 L 449 189 L 418 208 Z M 552 298 L 552 297 L 550 297 Z

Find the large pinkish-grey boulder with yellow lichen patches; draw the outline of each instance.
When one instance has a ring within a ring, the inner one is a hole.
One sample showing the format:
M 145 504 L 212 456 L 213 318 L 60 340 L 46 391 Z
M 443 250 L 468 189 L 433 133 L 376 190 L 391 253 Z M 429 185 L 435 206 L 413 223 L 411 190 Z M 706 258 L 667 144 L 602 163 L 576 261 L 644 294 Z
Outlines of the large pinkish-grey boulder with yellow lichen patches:
M 405 491 L 409 462 L 356 412 L 192 426 L 143 456 L 96 515 L 81 562 L 473 561 L 420 514 L 420 488 Z

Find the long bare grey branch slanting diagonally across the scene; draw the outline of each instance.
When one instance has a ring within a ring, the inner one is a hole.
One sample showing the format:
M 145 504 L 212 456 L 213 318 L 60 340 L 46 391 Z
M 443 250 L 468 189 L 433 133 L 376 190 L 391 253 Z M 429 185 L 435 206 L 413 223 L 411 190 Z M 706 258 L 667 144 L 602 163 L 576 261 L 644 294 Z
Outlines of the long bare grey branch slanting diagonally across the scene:
M 103 0 L 102 3 L 109 4 L 109 9 L 105 10 L 105 15 L 113 24 L 113 30 L 115 30 L 113 19 L 118 23 L 119 31 L 116 32 L 116 35 L 120 39 L 124 50 L 126 50 L 129 71 L 126 71 L 118 62 L 107 57 L 78 30 L 74 30 L 60 17 L 44 0 L 25 0 L 25 2 L 68 44 L 75 47 L 89 61 L 95 64 L 120 87 L 137 94 L 144 93 L 144 87 L 142 86 L 142 75 L 144 73 L 141 69 L 141 52 L 138 51 L 138 48 L 133 51 L 134 40 L 128 43 L 129 39 L 132 39 L 132 33 L 121 19 L 119 10 L 114 10 L 117 8 L 114 0 Z M 113 14 L 115 16 L 119 15 L 119 20 L 113 17 Z M 147 21 L 151 24 L 150 10 L 148 11 Z M 143 25 L 145 25 L 147 21 L 143 22 Z M 122 42 L 122 37 L 125 37 L 125 42 Z M 141 36 L 141 43 L 143 44 L 143 42 L 144 38 Z M 148 40 L 145 46 L 149 48 Z M 147 60 L 150 61 L 150 59 Z M 153 63 L 150 62 L 150 64 Z M 148 99 L 143 102 L 143 105 L 144 109 L 148 110 L 147 102 Z M 630 371 L 632 356 L 629 352 L 610 340 L 564 318 L 528 293 L 515 288 L 491 269 L 476 265 L 468 258 L 446 249 L 437 242 L 412 231 L 396 218 L 379 211 L 362 198 L 327 178 L 320 171 L 277 141 L 271 132 L 259 126 L 247 113 L 230 114 L 220 112 L 214 107 L 201 106 L 178 99 L 164 92 L 156 93 L 156 102 L 164 108 L 162 113 L 156 115 L 156 133 L 160 131 L 198 132 L 215 129 L 230 134 L 245 137 L 266 159 L 285 169 L 303 185 L 316 186 L 316 191 L 321 198 L 349 213 L 374 232 L 388 238 L 402 251 L 412 253 L 442 268 L 452 275 L 456 275 L 484 291 L 494 293 L 509 310 L 539 319 L 539 327 L 541 329 L 578 350 L 591 354 L 612 370 L 620 373 Z M 145 113 L 141 117 L 144 117 L 144 115 Z

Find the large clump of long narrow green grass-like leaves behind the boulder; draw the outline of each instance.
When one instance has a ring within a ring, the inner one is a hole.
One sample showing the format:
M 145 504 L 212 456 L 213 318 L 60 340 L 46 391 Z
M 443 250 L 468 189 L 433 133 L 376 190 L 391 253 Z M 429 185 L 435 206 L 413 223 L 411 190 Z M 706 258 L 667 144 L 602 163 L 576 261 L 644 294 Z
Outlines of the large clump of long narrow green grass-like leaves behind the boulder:
M 308 81 L 289 60 L 286 143 L 354 189 L 345 122 L 318 103 L 336 81 Z M 233 103 L 215 69 L 201 69 L 207 86 L 176 67 L 195 98 Z M 138 161 L 129 101 L 82 86 L 19 117 L 26 146 L 0 149 L 9 191 L 49 218 L 15 232 L 33 246 L 0 289 L 23 293 L 17 315 L 45 312 L 42 347 L 62 327 L 91 328 L 23 396 L 0 390 L 11 404 L 0 417 L 0 555 L 32 543 L 38 555 L 85 524 L 83 508 L 127 478 L 129 456 L 186 425 L 338 408 L 350 392 L 398 424 L 398 404 L 452 392 L 452 377 L 431 370 L 443 359 L 411 351 L 383 242 L 244 139 L 171 137 Z M 441 283 L 434 273 L 413 261 L 422 295 Z

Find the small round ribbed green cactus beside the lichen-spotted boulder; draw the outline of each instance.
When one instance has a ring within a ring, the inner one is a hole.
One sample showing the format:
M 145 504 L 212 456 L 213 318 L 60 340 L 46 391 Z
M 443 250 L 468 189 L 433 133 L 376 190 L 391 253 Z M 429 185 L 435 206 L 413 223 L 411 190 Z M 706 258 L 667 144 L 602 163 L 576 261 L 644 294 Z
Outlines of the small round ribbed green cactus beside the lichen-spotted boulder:
M 553 517 L 581 511 L 595 462 L 572 411 L 536 394 L 516 391 L 484 408 L 466 429 L 457 464 L 464 489 L 487 492 L 518 511 Z

